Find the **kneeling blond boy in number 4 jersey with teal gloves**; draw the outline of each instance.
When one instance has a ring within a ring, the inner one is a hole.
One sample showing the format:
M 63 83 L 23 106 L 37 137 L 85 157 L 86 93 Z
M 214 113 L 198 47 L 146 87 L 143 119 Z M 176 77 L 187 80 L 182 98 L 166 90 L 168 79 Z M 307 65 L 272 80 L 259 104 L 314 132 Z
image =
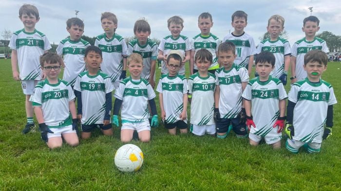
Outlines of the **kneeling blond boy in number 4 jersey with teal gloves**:
M 118 113 L 121 110 L 121 141 L 129 142 L 133 139 L 133 132 L 136 130 L 142 142 L 149 142 L 151 139 L 151 125 L 158 126 L 155 93 L 151 84 L 141 78 L 143 70 L 143 58 L 140 54 L 133 53 L 128 57 L 128 70 L 130 77 L 122 80 L 115 91 L 114 112 L 112 123 L 118 127 Z M 152 111 L 152 122 L 149 124 L 148 103 Z

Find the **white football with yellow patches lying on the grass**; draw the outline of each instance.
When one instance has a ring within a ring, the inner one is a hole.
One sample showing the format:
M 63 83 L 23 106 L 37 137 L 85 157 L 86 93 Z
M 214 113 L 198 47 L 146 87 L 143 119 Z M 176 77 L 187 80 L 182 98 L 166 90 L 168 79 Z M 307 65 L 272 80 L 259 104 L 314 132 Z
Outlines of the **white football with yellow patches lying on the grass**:
M 143 153 L 136 145 L 126 144 L 116 151 L 114 162 L 121 172 L 136 172 L 143 164 Z

